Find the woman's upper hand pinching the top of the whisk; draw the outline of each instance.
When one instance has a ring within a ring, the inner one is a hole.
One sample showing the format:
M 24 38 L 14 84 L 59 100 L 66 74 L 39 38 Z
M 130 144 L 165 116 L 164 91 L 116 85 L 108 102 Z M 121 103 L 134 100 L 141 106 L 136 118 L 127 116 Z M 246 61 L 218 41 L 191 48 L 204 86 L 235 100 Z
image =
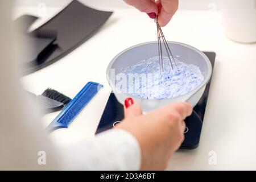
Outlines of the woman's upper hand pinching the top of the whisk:
M 170 22 L 172 16 L 177 11 L 178 0 L 124 0 L 127 4 L 134 6 L 138 10 L 147 13 L 150 18 L 156 18 L 161 27 Z

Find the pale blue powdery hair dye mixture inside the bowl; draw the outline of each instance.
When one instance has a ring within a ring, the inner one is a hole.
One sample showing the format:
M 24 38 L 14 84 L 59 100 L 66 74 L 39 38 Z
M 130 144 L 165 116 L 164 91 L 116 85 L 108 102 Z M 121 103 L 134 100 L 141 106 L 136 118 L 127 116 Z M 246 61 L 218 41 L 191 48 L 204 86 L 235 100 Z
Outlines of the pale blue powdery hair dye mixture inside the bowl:
M 129 82 L 133 92 L 129 94 L 147 100 L 163 100 L 184 95 L 197 88 L 203 82 L 199 67 L 186 64 L 175 58 L 173 69 L 168 57 L 163 57 L 164 72 L 160 71 L 159 57 L 151 57 L 123 69 L 122 73 L 129 76 L 146 75 L 146 79 L 133 79 Z

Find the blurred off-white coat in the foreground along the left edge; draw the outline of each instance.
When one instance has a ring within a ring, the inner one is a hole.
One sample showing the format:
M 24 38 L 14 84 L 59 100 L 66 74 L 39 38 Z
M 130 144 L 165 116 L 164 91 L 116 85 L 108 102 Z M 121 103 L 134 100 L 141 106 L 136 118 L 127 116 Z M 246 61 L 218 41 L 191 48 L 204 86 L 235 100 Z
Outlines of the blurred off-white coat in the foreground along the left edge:
M 0 170 L 55 169 L 55 150 L 40 125 L 39 113 L 28 103 L 20 85 L 12 5 L 13 1 L 0 1 Z M 46 165 L 38 162 L 40 151 L 47 154 Z

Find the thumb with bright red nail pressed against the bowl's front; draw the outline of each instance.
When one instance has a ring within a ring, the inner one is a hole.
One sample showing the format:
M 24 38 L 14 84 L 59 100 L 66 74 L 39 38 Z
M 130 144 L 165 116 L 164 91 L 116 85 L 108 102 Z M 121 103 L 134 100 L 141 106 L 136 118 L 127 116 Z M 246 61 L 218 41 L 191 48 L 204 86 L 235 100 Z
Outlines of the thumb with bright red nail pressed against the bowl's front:
M 141 106 L 139 106 L 139 104 L 132 98 L 126 98 L 123 109 L 125 112 L 125 118 L 142 115 Z

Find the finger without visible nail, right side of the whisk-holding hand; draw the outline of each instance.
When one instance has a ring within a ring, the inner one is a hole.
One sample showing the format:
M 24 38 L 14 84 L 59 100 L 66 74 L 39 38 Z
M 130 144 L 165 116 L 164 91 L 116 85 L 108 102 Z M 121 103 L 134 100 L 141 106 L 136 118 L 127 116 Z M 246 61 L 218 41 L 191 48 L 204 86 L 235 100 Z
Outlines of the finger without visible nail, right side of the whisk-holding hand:
M 179 6 L 178 0 L 161 0 L 162 9 L 158 15 L 158 23 L 161 27 L 166 26 L 170 22 L 172 16 Z

